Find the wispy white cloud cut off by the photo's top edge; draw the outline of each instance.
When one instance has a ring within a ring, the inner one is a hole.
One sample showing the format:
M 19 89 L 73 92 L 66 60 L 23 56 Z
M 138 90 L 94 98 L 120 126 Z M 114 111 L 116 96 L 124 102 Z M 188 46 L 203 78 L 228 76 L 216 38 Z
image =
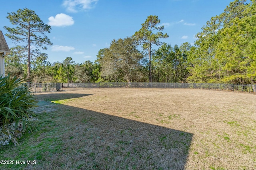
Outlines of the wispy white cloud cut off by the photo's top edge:
M 98 0 L 64 0 L 63 6 L 68 12 L 78 12 L 79 10 L 88 10 L 95 5 Z

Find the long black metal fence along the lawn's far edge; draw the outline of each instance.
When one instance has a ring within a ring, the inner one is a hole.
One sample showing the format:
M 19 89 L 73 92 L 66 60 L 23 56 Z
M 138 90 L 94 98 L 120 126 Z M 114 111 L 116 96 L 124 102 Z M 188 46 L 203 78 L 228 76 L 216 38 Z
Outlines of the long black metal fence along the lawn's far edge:
M 100 83 L 23 83 L 32 93 L 85 90 L 92 88 L 194 88 L 256 94 L 255 84 L 214 83 L 142 83 L 142 82 L 100 82 Z

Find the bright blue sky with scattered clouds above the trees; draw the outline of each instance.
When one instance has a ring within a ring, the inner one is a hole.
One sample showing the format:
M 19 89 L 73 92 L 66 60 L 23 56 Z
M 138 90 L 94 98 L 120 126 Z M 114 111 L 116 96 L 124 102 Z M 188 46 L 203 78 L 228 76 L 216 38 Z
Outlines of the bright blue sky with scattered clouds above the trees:
M 194 44 L 196 33 L 211 17 L 224 12 L 233 0 L 8 0 L 1 2 L 0 30 L 14 27 L 6 18 L 8 12 L 28 8 L 52 26 L 47 34 L 53 45 L 44 53 L 54 63 L 72 57 L 76 63 L 96 60 L 100 49 L 113 39 L 132 36 L 146 18 L 156 15 L 174 46 Z M 5 36 L 6 37 L 6 36 Z M 6 37 L 9 47 L 15 46 Z

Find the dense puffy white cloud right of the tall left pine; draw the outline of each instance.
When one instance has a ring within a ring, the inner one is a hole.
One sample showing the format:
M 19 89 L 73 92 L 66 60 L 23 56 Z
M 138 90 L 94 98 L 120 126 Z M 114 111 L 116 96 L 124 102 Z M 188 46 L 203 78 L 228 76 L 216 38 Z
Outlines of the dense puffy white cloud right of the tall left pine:
M 68 26 L 68 25 L 73 25 L 74 20 L 71 16 L 68 16 L 66 14 L 57 14 L 55 18 L 53 16 L 48 18 L 49 22 L 48 25 L 51 26 Z

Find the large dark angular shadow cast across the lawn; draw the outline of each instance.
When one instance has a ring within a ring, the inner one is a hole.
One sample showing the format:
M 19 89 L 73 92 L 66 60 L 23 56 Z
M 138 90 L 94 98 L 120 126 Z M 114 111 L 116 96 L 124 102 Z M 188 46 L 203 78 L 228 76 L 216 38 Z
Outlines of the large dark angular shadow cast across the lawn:
M 72 98 L 71 95 L 41 94 L 37 97 L 52 101 Z M 74 95 L 78 98 L 90 94 Z M 18 167 L 100 170 L 185 168 L 192 133 L 63 104 L 52 104 L 52 107 L 58 107 L 59 111 L 38 114 L 42 131 L 26 143 L 34 147 L 23 149 L 21 145 L 17 149 L 30 154 L 16 159 L 36 158 L 37 163 Z

